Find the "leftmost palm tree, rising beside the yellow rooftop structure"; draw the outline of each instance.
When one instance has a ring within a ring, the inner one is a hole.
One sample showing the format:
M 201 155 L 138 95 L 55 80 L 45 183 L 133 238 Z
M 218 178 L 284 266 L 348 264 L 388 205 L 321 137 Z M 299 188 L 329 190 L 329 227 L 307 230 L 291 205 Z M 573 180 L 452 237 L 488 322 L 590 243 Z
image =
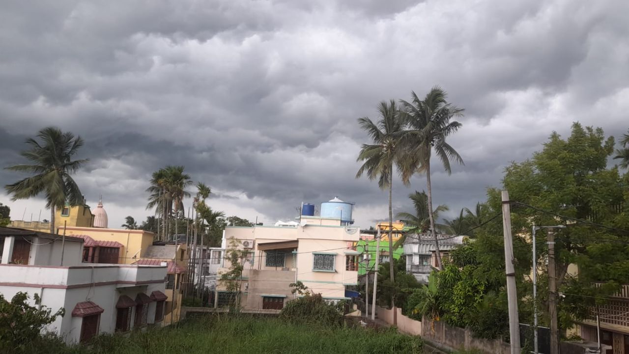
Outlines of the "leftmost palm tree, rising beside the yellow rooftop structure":
M 79 186 L 72 179 L 72 174 L 87 163 L 87 159 L 72 160 L 83 146 L 83 139 L 59 128 L 47 127 L 40 130 L 36 137 L 26 139 L 30 149 L 20 152 L 29 164 L 18 164 L 6 169 L 31 173 L 4 189 L 11 195 L 11 200 L 28 199 L 44 193 L 46 208 L 50 208 L 50 233 L 55 233 L 55 208 L 64 207 L 65 203 L 84 203 Z

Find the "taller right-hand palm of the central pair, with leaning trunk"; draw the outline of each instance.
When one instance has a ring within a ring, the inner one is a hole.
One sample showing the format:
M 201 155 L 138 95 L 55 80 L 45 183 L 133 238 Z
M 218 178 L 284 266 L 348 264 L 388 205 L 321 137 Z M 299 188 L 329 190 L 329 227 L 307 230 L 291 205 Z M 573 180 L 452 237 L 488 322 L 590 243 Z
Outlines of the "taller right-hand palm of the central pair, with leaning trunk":
M 448 174 L 452 173 L 450 159 L 463 164 L 459 153 L 445 139 L 461 127 L 461 123 L 452 121 L 453 117 L 463 115 L 462 108 L 457 108 L 446 101 L 447 93 L 438 86 L 433 87 L 423 100 L 411 92 L 411 102 L 401 101 L 403 117 L 409 129 L 403 134 L 401 142 L 405 147 L 403 181 L 408 181 L 415 173 L 426 173 L 426 191 L 428 194 L 428 214 L 430 232 L 435 241 L 438 268 L 442 269 L 441 254 L 435 230 L 435 217 L 432 213 L 432 186 L 430 181 L 430 157 L 434 152 L 441 160 Z

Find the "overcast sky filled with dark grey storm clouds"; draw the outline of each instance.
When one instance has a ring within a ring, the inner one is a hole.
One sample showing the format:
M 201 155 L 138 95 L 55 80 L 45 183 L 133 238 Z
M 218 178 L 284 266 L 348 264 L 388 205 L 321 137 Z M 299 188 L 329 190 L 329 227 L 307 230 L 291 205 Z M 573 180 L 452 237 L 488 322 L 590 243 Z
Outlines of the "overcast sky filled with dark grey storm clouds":
M 450 138 L 465 166 L 435 161 L 435 203 L 484 200 L 509 161 L 574 121 L 629 127 L 629 1 L 3 1 L 0 166 L 55 125 L 86 141 L 75 180 L 118 227 L 145 219 L 150 174 L 182 164 L 211 207 L 250 220 L 301 202 L 387 217 L 387 193 L 356 180 L 381 100 L 440 85 L 465 108 Z M 2 185 L 21 178 L 0 171 Z M 394 211 L 425 189 L 394 183 Z M 49 219 L 43 200 L 0 202 Z M 186 201 L 186 207 L 191 203 Z

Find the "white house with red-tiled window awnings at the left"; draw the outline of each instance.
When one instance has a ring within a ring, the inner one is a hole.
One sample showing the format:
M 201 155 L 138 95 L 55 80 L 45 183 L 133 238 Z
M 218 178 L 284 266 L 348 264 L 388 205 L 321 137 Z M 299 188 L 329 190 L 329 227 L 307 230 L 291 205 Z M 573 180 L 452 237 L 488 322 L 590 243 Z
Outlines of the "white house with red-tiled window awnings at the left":
M 67 343 L 160 324 L 166 266 L 82 263 L 84 239 L 0 227 L 0 294 L 38 294 L 65 315 L 47 326 Z M 63 258 L 63 259 L 62 259 Z

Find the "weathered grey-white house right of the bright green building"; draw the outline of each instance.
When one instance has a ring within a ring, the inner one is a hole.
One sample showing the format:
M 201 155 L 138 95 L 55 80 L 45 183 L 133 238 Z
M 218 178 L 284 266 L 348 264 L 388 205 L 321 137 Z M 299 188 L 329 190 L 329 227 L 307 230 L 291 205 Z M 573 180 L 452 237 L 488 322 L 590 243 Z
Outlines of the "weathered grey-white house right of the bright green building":
M 442 259 L 449 256 L 450 250 L 463 243 L 464 236 L 437 235 L 439 251 Z M 404 239 L 404 256 L 406 256 L 406 273 L 428 283 L 428 275 L 437 266 L 435 240 L 431 234 L 409 234 Z

